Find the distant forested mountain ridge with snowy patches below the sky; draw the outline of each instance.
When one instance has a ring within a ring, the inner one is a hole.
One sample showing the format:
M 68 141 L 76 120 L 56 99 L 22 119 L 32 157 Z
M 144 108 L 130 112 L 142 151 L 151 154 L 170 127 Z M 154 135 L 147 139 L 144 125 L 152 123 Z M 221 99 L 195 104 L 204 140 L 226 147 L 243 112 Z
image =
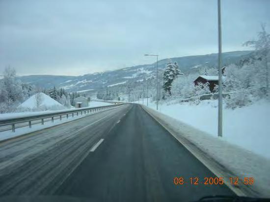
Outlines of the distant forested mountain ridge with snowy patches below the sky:
M 239 62 L 244 57 L 251 54 L 252 51 L 233 51 L 222 53 L 222 63 L 231 64 Z M 169 58 L 159 61 L 159 68 L 164 69 L 165 64 Z M 195 55 L 170 58 L 176 61 L 183 73 L 194 71 L 194 68 L 201 65 L 208 65 L 210 67 L 217 64 L 217 53 L 207 55 Z M 137 65 L 133 67 L 126 67 L 119 70 L 87 74 L 83 76 L 53 76 L 53 75 L 30 75 L 19 76 L 23 83 L 31 85 L 38 85 L 44 88 L 64 88 L 68 92 L 95 91 L 106 86 L 114 86 L 130 81 L 138 81 L 148 76 L 155 76 L 157 63 Z

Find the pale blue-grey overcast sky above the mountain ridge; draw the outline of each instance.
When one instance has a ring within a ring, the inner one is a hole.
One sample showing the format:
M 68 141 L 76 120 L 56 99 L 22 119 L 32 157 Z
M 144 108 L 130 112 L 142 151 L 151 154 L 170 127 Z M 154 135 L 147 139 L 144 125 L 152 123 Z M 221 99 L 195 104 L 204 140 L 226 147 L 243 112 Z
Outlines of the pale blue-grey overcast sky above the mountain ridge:
M 83 75 L 217 52 L 217 0 L 0 0 L 0 74 Z M 221 0 L 223 51 L 248 50 L 270 0 Z M 270 23 L 267 25 L 270 30 Z

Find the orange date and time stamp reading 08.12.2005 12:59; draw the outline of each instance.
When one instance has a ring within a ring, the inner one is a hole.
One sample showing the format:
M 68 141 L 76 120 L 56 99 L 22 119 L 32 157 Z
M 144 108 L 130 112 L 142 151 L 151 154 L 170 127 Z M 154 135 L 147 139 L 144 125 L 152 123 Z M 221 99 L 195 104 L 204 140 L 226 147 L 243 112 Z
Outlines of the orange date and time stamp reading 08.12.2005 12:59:
M 254 177 L 229 177 L 227 180 L 231 185 L 252 185 L 254 184 Z M 174 177 L 173 183 L 175 185 L 183 185 L 183 184 L 192 184 L 192 185 L 221 185 L 224 184 L 224 177 L 204 177 L 204 179 L 200 179 L 199 177 L 189 177 L 188 179 L 184 177 Z

